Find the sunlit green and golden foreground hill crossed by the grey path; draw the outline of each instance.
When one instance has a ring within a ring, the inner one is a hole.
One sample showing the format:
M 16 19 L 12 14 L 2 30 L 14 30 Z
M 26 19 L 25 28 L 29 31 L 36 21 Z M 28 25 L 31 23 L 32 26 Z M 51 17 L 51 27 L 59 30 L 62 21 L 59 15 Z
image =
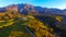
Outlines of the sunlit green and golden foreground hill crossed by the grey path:
M 32 15 L 12 17 L 0 22 L 1 37 L 55 37 L 53 28 L 48 28 Z

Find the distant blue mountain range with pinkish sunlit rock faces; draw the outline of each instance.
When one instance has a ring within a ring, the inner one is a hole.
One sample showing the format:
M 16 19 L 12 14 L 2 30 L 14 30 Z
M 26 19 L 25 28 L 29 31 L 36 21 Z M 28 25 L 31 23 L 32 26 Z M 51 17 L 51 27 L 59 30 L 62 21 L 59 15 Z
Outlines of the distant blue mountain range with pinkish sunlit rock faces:
M 0 12 L 6 12 L 7 10 L 9 11 L 18 11 L 23 14 L 29 14 L 30 12 L 33 12 L 34 14 L 66 14 L 66 9 L 65 10 L 59 10 L 59 9 L 47 9 L 47 8 L 42 8 L 42 7 L 34 7 L 31 4 L 11 4 L 4 8 L 0 8 Z

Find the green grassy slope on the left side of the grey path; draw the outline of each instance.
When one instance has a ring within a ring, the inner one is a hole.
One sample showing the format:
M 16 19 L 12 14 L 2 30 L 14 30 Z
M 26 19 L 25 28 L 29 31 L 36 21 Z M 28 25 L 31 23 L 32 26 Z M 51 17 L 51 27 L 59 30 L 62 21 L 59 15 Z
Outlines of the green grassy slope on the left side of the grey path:
M 25 26 L 23 25 L 24 23 L 25 22 L 20 18 L 8 20 L 2 23 L 0 22 L 0 26 L 3 26 L 3 28 L 0 28 L 0 37 L 9 37 L 12 30 L 24 33 L 20 37 L 31 37 L 31 35 L 25 29 Z

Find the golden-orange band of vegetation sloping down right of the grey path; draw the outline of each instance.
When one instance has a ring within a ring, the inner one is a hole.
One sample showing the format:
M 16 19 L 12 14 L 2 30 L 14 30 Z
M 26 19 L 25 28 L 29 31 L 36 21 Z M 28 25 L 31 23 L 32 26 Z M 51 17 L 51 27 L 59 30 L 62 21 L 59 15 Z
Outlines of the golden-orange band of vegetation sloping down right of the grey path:
M 29 29 L 36 36 L 36 37 L 55 37 L 53 33 L 53 28 L 48 28 L 45 24 L 35 20 L 33 16 L 29 16 L 30 21 L 26 23 Z

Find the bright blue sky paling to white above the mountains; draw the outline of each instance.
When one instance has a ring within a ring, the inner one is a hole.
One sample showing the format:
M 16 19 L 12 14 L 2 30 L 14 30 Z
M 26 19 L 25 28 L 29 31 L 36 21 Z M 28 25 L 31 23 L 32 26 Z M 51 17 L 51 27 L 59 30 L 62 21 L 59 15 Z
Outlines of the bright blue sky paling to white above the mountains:
M 0 0 L 0 8 L 19 3 L 28 3 L 43 8 L 66 9 L 66 0 Z

